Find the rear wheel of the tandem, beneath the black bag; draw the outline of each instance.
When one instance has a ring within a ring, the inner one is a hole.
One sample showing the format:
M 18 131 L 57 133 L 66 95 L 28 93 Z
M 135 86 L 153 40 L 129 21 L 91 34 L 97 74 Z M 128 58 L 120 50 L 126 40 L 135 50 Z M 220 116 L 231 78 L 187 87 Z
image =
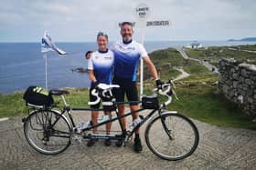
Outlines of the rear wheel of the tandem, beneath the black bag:
M 28 144 L 46 155 L 56 155 L 67 149 L 70 132 L 68 121 L 53 110 L 35 111 L 24 124 Z

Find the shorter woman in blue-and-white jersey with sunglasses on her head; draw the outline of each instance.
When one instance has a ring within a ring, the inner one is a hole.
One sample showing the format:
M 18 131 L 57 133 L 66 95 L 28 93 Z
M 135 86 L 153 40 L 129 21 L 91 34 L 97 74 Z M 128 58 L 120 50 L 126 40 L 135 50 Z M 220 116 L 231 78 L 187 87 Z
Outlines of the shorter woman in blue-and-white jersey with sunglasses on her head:
M 100 83 L 103 84 L 112 84 L 112 66 L 113 66 L 113 53 L 108 49 L 108 35 L 100 32 L 97 35 L 97 44 L 98 51 L 91 54 L 91 58 L 88 61 L 88 73 L 91 79 L 91 89 L 90 89 L 90 101 L 93 102 L 97 98 L 94 95 L 91 95 L 91 91 Z M 102 105 L 104 109 L 104 114 L 111 117 L 112 106 L 104 105 L 104 102 L 110 102 L 111 99 L 102 98 Z M 97 105 L 91 105 L 91 108 L 98 109 L 100 103 Z M 91 111 L 91 120 L 93 125 L 97 125 L 99 111 Z M 110 134 L 112 123 L 106 124 L 106 134 Z M 97 134 L 97 128 L 93 128 L 93 134 Z M 87 145 L 94 145 L 96 142 L 95 139 L 91 139 Z M 111 145 L 109 139 L 105 140 L 105 145 Z

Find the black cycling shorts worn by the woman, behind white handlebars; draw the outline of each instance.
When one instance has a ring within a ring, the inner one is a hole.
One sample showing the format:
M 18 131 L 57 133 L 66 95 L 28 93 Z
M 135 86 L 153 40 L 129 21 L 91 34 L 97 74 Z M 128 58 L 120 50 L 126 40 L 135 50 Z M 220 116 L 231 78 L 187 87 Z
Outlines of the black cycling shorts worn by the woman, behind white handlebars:
M 94 102 L 97 100 L 97 97 L 94 96 L 94 95 L 91 95 L 91 91 L 93 90 L 94 88 L 90 88 L 90 101 L 91 102 Z M 102 101 L 102 106 L 103 106 L 103 109 L 105 111 L 112 111 L 114 110 L 114 105 L 112 105 L 112 98 L 107 98 L 107 97 L 101 97 L 101 101 Z M 100 108 L 100 105 L 101 105 L 101 102 L 99 102 L 98 104 L 96 105 L 90 105 L 90 107 L 92 109 L 99 109 Z

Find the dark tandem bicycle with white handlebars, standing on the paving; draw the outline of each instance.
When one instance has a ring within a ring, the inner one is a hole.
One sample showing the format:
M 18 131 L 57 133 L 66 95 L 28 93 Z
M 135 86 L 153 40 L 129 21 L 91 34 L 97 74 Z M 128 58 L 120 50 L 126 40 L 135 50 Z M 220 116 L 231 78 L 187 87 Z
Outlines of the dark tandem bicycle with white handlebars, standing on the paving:
M 64 104 L 61 109 L 56 109 L 58 104 L 52 98 L 49 98 L 48 103 L 45 103 L 46 105 L 33 104 L 33 101 L 38 98 L 36 95 L 32 97 L 31 101 L 27 101 L 25 98 L 27 106 L 32 108 L 27 117 L 23 118 L 24 133 L 28 144 L 45 155 L 57 155 L 65 151 L 74 137 L 77 136 L 83 139 L 121 141 L 121 143 L 116 144 L 118 144 L 117 146 L 122 146 L 129 142 L 134 132 L 149 120 L 144 130 L 144 138 L 146 145 L 155 155 L 165 160 L 176 161 L 184 159 L 195 152 L 199 141 L 197 126 L 187 116 L 181 115 L 177 111 L 166 110 L 166 105 L 171 104 L 173 96 L 176 97 L 173 81 L 170 80 L 155 89 L 154 95 L 145 95 L 142 101 L 134 101 L 138 104 L 141 103 L 142 107 L 122 116 L 118 113 L 117 105 L 131 104 L 131 102 L 115 102 L 112 88 L 118 88 L 118 85 L 100 84 L 98 90 L 92 90 L 92 95 L 97 96 L 97 100 L 89 103 L 89 105 L 100 102 L 101 96 L 111 97 L 113 111 L 115 112 L 114 116 L 97 125 L 92 125 L 90 120 L 80 124 L 75 123 L 72 111 L 91 111 L 92 109 L 70 107 L 65 98 L 65 95 L 69 94 L 66 90 L 52 89 L 45 92 L 48 93 L 48 97 L 52 95 L 61 97 Z M 40 90 L 37 87 L 32 89 L 32 91 Z M 160 95 L 166 98 L 165 102 L 161 104 L 159 102 Z M 123 129 L 121 121 L 123 117 L 140 113 L 144 110 L 149 110 L 149 114 L 145 117 L 140 116 L 140 122 L 133 125 L 132 130 L 126 131 Z M 118 121 L 120 125 L 120 134 L 90 133 L 94 127 L 114 121 Z

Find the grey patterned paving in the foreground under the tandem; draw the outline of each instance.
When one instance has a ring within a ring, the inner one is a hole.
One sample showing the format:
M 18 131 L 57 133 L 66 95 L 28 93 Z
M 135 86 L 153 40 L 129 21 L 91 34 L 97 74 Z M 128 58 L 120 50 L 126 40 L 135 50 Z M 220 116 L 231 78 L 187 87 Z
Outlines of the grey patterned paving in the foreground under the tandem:
M 89 115 L 75 113 L 77 121 Z M 255 169 L 255 131 L 194 122 L 200 134 L 196 152 L 169 162 L 151 153 L 144 141 L 141 154 L 133 152 L 132 142 L 126 147 L 107 147 L 100 141 L 92 147 L 72 144 L 59 155 L 41 155 L 27 144 L 21 117 L 14 117 L 0 122 L 0 169 Z

